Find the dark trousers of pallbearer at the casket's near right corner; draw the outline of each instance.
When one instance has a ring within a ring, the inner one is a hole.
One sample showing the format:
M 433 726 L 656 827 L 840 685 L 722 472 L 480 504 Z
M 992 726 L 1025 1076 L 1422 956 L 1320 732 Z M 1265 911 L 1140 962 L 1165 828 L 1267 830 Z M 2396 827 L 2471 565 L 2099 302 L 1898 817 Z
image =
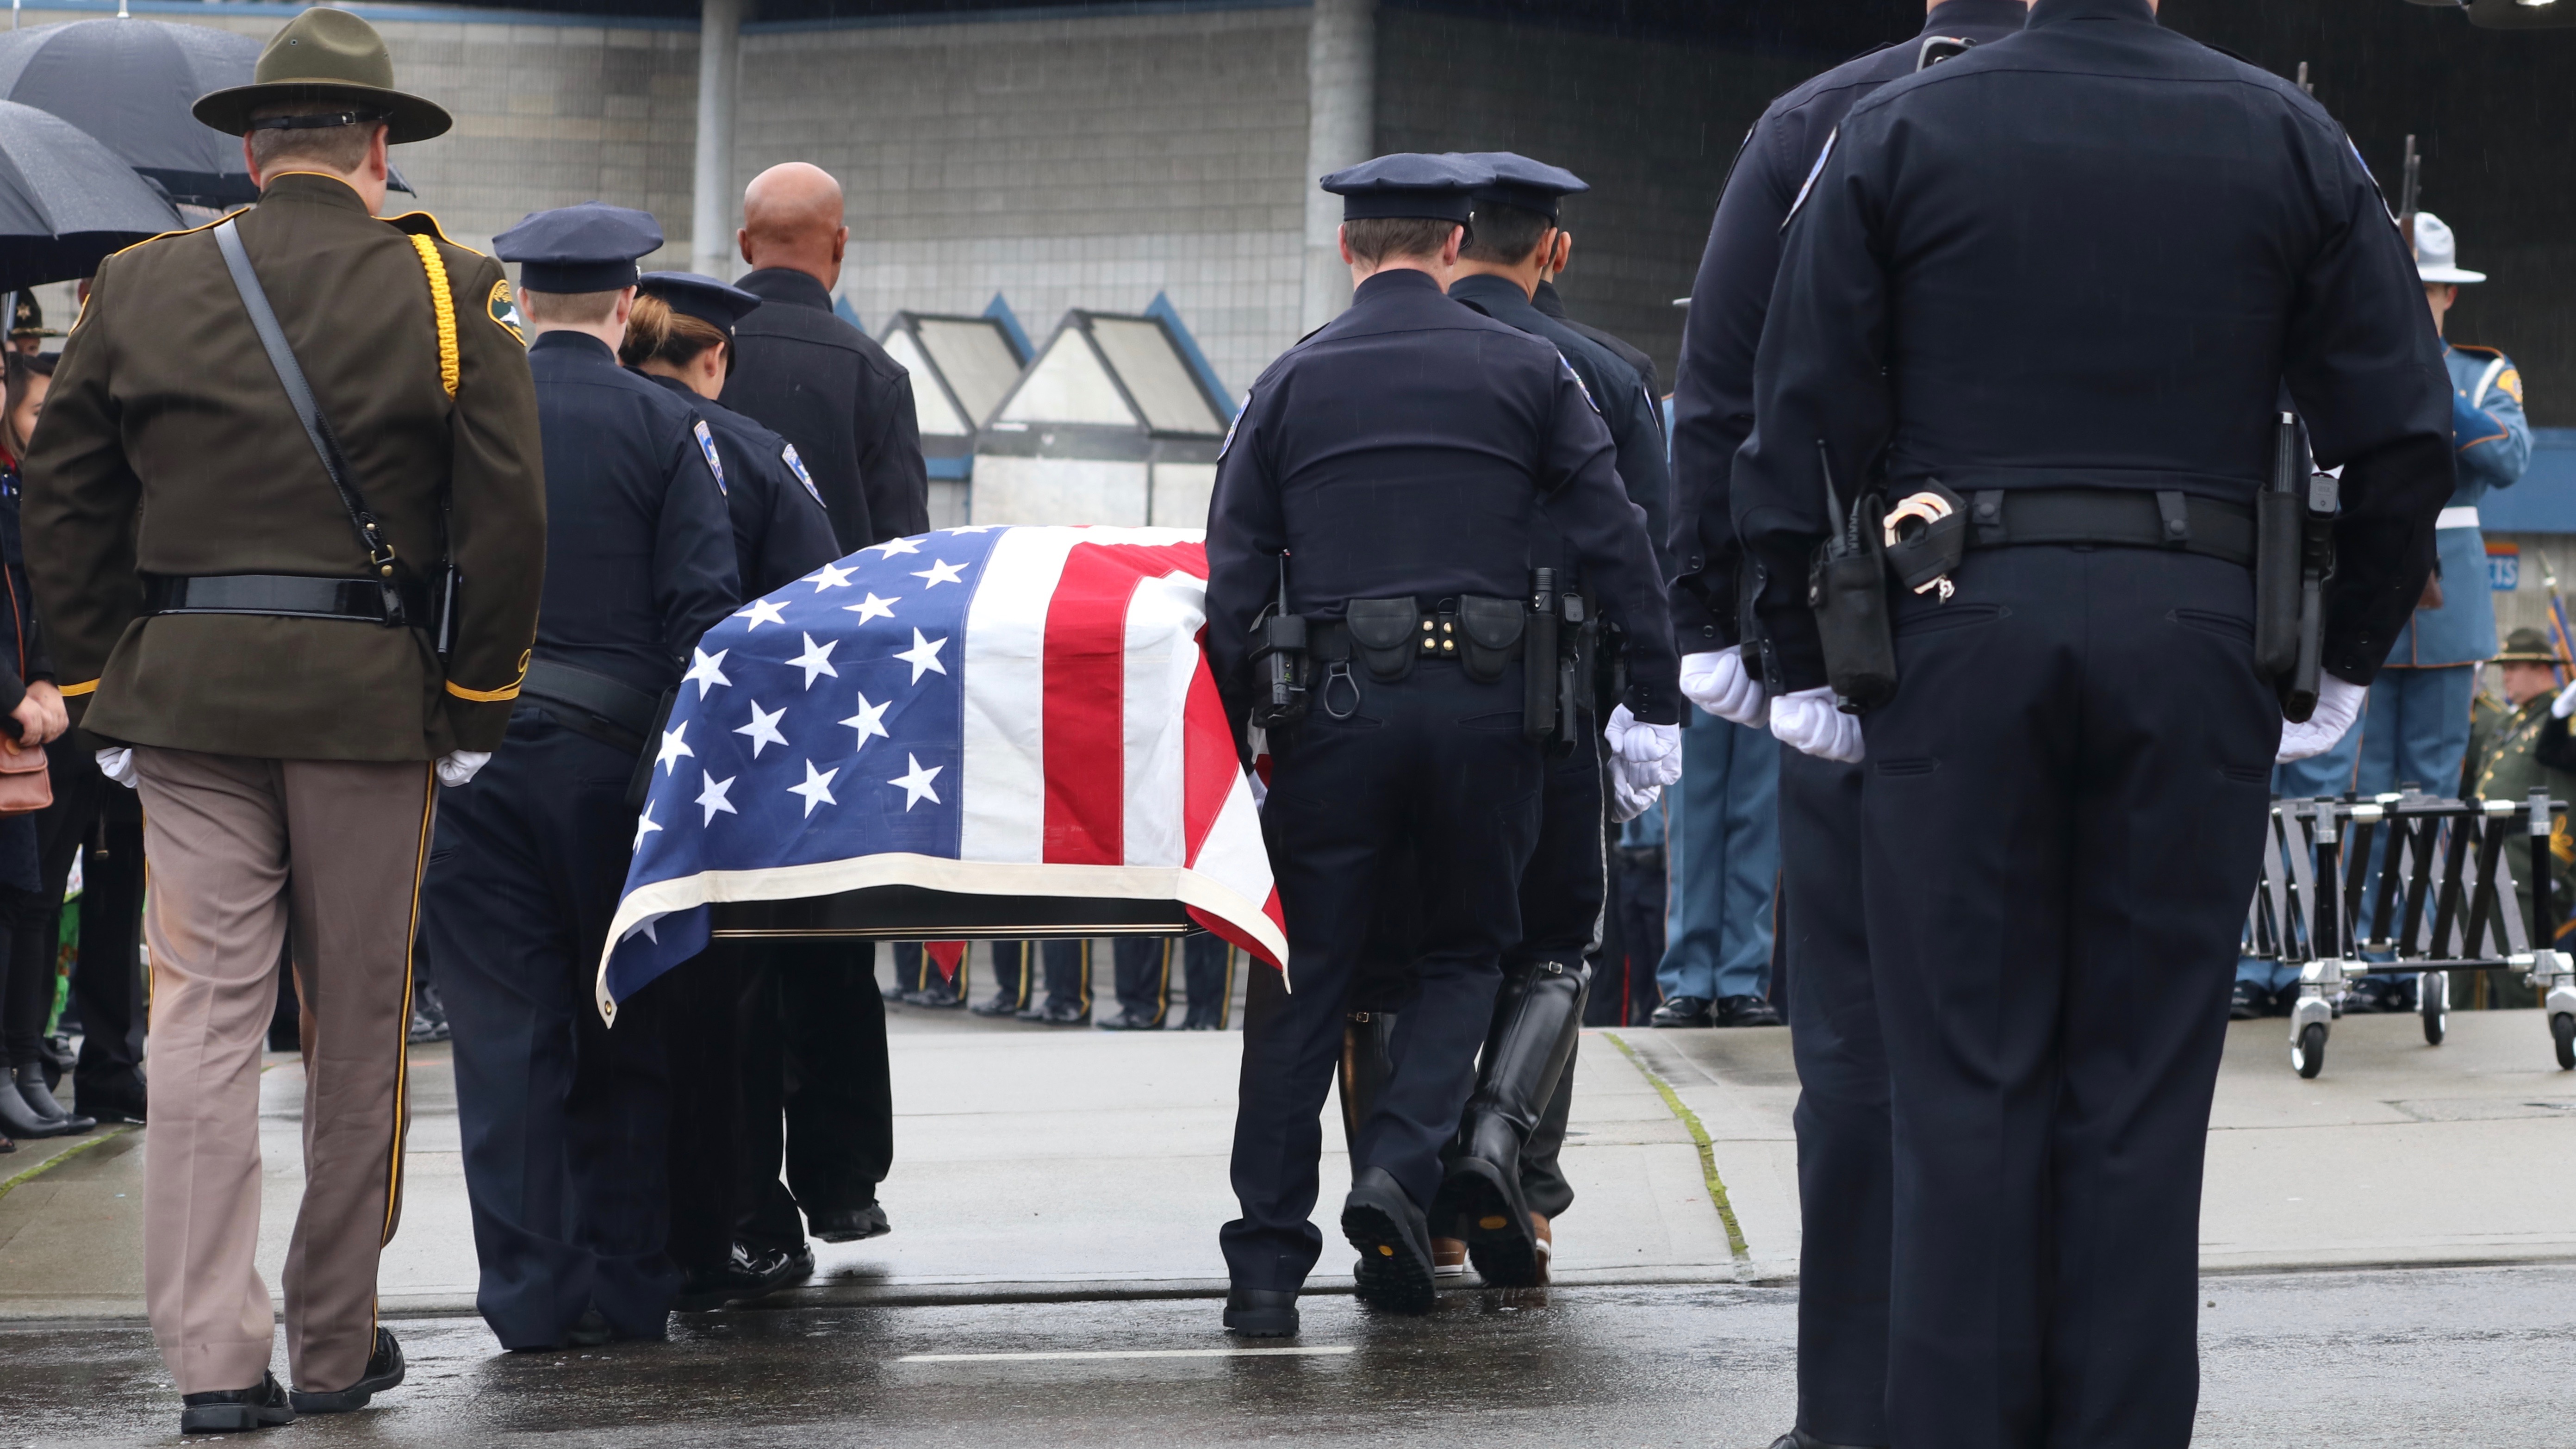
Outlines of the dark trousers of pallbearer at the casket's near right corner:
M 1368 955 L 1386 865 L 1414 857 L 1422 942 L 1396 1024 L 1394 1071 L 1352 1145 L 1422 1207 L 1473 1089 L 1502 978 L 1520 942 L 1520 878 L 1538 842 L 1538 746 L 1520 739 L 1520 669 L 1494 685 L 1455 664 L 1365 679 L 1347 721 L 1311 713 L 1278 759 L 1262 834 L 1288 916 L 1288 981 L 1255 973 L 1234 1117 L 1242 1217 L 1218 1243 L 1239 1287 L 1296 1289 L 1324 1238 L 1316 1199 L 1324 1094 L 1345 999 Z

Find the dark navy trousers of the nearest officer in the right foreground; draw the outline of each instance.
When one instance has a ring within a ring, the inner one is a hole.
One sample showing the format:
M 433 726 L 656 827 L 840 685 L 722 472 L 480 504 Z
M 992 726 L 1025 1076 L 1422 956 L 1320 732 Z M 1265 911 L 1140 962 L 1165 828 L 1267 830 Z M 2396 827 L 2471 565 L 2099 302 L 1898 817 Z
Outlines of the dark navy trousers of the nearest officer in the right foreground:
M 1906 1449 L 2179 1449 L 2200 1168 L 2280 705 L 2251 574 L 1971 553 L 1899 595 L 1862 788 Z

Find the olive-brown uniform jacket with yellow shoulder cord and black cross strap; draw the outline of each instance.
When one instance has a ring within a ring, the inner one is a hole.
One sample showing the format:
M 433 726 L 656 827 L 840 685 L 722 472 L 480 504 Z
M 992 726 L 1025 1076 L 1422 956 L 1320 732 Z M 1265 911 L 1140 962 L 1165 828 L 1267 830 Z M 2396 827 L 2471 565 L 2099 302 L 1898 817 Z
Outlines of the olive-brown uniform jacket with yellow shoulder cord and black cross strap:
M 260 759 L 495 749 L 546 566 L 536 386 L 502 268 L 314 172 L 270 178 L 240 232 L 353 486 L 420 579 L 438 577 L 448 494 L 451 664 L 422 628 L 144 615 L 142 574 L 371 574 L 211 229 L 175 232 L 98 268 L 28 448 L 28 574 L 72 721 Z

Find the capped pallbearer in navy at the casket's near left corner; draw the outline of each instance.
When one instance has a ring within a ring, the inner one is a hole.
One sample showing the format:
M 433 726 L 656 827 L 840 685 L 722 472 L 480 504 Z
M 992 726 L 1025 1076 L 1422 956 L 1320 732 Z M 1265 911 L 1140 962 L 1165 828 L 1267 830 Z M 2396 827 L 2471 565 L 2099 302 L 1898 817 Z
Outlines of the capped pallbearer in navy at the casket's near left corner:
M 587 201 L 492 239 L 520 263 L 546 438 L 546 600 L 510 739 L 451 790 L 430 952 L 456 1029 L 456 1120 L 502 1349 L 662 1338 L 670 1078 L 639 993 L 595 978 L 634 854 L 629 788 L 701 633 L 737 602 L 734 530 L 688 399 L 618 368 L 644 211 Z

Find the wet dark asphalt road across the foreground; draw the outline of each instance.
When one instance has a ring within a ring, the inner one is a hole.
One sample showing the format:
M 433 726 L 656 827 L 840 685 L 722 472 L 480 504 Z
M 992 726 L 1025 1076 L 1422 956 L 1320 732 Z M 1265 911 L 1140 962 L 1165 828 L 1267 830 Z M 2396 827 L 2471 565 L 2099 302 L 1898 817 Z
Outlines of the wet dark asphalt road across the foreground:
M 2213 1277 L 2202 1302 L 2202 1446 L 2576 1444 L 2576 1266 Z M 592 1354 L 394 1328 L 404 1387 L 258 1441 L 1757 1449 L 1790 1421 L 1795 1320 L 1777 1287 L 1577 1287 L 1430 1318 L 1309 1297 L 1255 1354 L 1211 1300 L 737 1310 Z M 180 1441 L 142 1325 L 10 1325 L 0 1364 L 0 1441 Z

